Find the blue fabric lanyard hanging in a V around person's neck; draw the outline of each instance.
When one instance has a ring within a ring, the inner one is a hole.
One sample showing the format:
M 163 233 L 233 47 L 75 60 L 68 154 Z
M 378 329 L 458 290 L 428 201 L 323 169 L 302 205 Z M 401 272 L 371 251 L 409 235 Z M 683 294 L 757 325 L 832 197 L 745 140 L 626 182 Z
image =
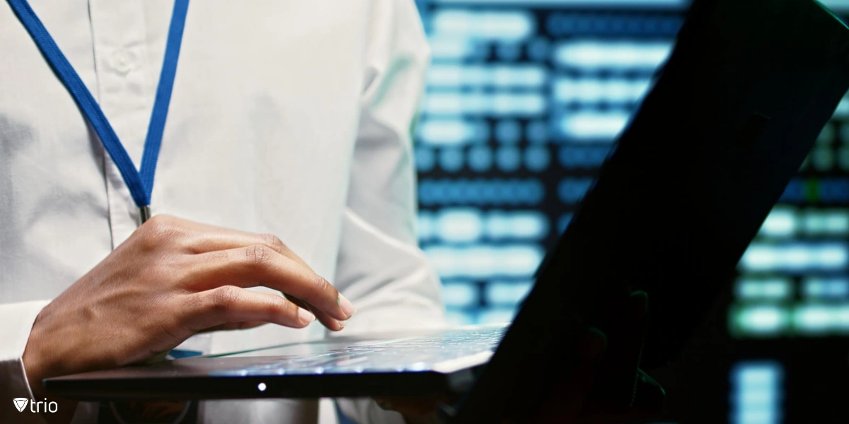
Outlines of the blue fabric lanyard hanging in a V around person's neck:
M 141 171 L 136 170 L 132 164 L 127 149 L 118 140 L 115 130 L 106 119 L 103 110 L 100 109 L 92 93 L 76 74 L 68 59 L 56 46 L 53 37 L 44 28 L 42 21 L 32 11 L 26 0 L 8 0 L 8 4 L 18 15 L 21 24 L 30 33 L 32 40 L 36 42 L 44 58 L 48 60 L 53 72 L 59 76 L 59 80 L 74 98 L 77 106 L 86 116 L 89 124 L 98 134 L 100 142 L 109 152 L 112 161 L 121 171 L 121 176 L 132 194 L 132 200 L 141 210 L 142 222 L 150 216 L 150 194 L 154 188 L 154 174 L 156 172 L 156 160 L 159 159 L 160 146 L 162 145 L 162 133 L 165 131 L 165 121 L 168 116 L 168 105 L 171 103 L 171 90 L 174 87 L 174 76 L 177 74 L 177 59 L 180 57 L 180 44 L 183 42 L 183 28 L 186 25 L 186 14 L 188 12 L 188 0 L 175 0 L 174 11 L 171 14 L 171 26 L 168 29 L 168 42 L 165 49 L 165 59 L 162 62 L 159 86 L 156 88 L 153 113 L 150 115 L 148 134 L 144 140 L 144 153 L 142 155 Z

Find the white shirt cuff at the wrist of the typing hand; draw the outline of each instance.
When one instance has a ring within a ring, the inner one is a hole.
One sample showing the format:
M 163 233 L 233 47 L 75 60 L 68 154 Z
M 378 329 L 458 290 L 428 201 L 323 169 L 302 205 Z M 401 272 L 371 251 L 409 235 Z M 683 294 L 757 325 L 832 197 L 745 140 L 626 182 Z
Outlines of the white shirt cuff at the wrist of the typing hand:
M 15 304 L 0 304 L 0 399 L 7 406 L 0 408 L 0 422 L 42 424 L 42 415 L 30 410 L 18 411 L 10 399 L 34 399 L 24 370 L 26 342 L 30 339 L 32 324 L 49 300 L 35 300 Z

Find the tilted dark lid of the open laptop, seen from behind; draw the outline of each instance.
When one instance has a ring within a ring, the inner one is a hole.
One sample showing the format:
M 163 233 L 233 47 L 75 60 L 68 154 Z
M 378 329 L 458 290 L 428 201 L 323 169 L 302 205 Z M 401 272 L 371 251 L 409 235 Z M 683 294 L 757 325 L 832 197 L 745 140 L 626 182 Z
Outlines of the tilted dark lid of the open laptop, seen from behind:
M 549 252 L 505 338 L 515 346 L 499 350 L 492 373 L 516 360 L 551 363 L 556 356 L 520 345 L 551 346 L 553 323 L 571 315 L 604 326 L 608 299 L 634 289 L 650 298 L 644 366 L 676 359 L 730 293 L 739 259 L 847 88 L 849 31 L 818 3 L 696 2 L 660 79 Z M 730 357 L 702 352 L 728 365 Z M 511 378 L 544 386 L 527 374 L 495 380 Z M 724 402 L 726 393 L 713 394 Z

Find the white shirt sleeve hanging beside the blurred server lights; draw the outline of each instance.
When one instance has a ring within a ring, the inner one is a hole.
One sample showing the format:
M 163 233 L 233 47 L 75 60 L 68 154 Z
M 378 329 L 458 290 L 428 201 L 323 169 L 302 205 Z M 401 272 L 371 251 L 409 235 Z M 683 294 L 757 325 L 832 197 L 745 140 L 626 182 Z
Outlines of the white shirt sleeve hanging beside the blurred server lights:
M 357 307 L 341 335 L 445 326 L 440 282 L 419 249 L 411 127 L 430 49 L 413 0 L 377 0 L 335 285 Z M 372 400 L 337 399 L 352 420 L 403 423 Z

